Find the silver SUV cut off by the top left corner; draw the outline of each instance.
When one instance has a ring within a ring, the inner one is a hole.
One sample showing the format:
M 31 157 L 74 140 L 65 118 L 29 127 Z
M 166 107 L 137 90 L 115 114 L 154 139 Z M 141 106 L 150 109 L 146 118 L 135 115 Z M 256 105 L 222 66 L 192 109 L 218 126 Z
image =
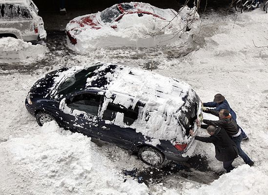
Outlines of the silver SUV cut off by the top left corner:
M 32 0 L 0 0 L 0 38 L 37 43 L 46 39 L 44 23 Z

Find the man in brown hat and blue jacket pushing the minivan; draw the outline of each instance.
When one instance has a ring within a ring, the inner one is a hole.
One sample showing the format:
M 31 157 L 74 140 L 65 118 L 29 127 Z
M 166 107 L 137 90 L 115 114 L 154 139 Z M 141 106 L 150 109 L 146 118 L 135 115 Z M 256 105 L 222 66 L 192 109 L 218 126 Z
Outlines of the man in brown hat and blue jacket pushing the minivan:
M 214 108 L 212 110 L 219 111 L 219 112 L 222 109 L 227 109 L 229 111 L 230 115 L 232 116 L 232 118 L 234 119 L 234 121 L 236 122 L 236 114 L 235 114 L 235 112 L 231 109 L 231 107 L 228 104 L 227 100 L 221 94 L 216 94 L 214 96 L 213 102 L 203 103 L 203 106 Z M 209 110 L 211 110 L 211 109 L 205 108 L 205 109 L 203 109 L 203 112 L 208 113 Z M 248 137 L 247 137 L 246 133 L 243 131 L 243 129 L 241 127 L 239 127 L 239 128 L 241 129 L 243 140 L 248 140 Z

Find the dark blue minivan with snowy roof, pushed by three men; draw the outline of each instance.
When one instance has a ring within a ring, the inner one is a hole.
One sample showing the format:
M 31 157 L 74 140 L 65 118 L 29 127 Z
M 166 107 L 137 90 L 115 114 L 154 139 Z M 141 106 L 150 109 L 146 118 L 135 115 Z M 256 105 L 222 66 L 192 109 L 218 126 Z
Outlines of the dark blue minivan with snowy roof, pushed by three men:
M 138 152 L 159 166 L 185 161 L 200 129 L 201 101 L 183 81 L 114 64 L 63 68 L 38 80 L 25 100 L 39 125 L 56 120 L 80 132 Z

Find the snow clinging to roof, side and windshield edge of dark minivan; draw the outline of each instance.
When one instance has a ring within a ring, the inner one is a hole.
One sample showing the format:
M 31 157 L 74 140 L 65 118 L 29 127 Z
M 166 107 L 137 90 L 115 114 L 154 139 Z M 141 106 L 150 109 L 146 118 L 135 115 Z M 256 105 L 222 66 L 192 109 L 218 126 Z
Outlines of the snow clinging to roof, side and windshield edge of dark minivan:
M 190 85 L 137 68 L 111 63 L 97 65 L 101 66 L 94 71 L 94 76 L 87 78 L 85 88 L 80 90 L 97 89 L 100 90 L 100 94 L 104 94 L 100 117 L 110 102 L 132 110 L 138 106 L 139 111 L 138 118 L 129 126 L 124 123 L 124 113 L 120 112 L 117 112 L 113 121 L 105 122 L 136 129 L 136 132 L 152 138 L 151 145 L 159 144 L 160 140 L 170 140 L 172 143 L 174 140 L 189 141 L 180 118 L 186 109 L 185 106 L 196 96 Z M 58 73 L 59 76 L 54 78 L 51 94 L 57 93 L 59 83 L 85 68 L 88 67 L 75 66 Z M 64 113 L 76 116 L 82 112 L 71 111 L 65 103 L 65 98 L 60 104 Z

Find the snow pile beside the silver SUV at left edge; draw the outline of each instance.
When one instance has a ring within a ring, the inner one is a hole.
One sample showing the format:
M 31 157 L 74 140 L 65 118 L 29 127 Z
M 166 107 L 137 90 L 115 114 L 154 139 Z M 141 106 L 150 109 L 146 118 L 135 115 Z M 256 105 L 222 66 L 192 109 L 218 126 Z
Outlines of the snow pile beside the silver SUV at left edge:
M 0 63 L 27 62 L 44 58 L 47 48 L 11 37 L 0 39 Z

